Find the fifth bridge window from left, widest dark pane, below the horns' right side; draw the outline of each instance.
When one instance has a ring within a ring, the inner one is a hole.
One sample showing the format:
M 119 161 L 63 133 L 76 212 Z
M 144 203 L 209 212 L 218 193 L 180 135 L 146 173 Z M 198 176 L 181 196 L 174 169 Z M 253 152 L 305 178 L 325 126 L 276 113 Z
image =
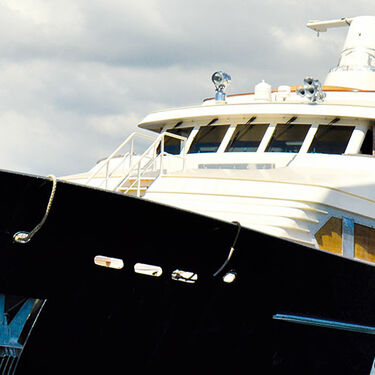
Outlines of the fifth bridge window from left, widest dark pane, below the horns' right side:
M 319 125 L 308 152 L 343 154 L 354 126 Z

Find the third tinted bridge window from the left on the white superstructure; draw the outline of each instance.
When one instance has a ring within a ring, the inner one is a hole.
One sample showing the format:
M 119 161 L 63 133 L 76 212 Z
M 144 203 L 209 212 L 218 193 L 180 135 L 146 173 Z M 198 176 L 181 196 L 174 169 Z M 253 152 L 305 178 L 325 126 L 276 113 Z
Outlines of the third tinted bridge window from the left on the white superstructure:
M 225 152 L 256 152 L 268 124 L 237 125 Z

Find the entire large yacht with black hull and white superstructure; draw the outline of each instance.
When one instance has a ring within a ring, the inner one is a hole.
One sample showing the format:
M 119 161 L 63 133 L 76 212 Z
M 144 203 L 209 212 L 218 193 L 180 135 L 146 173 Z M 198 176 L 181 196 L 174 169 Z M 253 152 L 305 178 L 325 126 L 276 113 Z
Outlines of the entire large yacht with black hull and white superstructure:
M 375 17 L 307 26 L 348 28 L 323 83 L 218 71 L 88 172 L 0 172 L 1 374 L 375 374 Z

